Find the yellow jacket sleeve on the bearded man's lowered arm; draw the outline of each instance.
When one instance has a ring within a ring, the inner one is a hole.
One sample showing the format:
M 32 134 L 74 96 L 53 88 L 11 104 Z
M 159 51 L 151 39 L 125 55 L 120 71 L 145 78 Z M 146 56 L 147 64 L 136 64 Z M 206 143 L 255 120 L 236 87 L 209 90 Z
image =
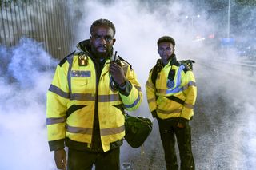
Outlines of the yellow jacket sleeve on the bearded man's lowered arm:
M 67 102 L 70 101 L 67 68 L 67 61 L 57 66 L 47 92 L 46 125 L 51 151 L 64 148 Z

